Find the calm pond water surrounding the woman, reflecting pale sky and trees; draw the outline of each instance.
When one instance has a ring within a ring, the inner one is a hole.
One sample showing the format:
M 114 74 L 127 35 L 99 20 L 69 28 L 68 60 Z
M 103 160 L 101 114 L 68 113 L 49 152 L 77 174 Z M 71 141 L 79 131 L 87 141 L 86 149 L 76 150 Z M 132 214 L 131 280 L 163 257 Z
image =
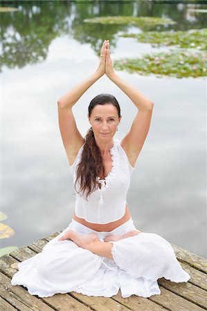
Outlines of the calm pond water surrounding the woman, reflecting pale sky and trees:
M 75 196 L 57 100 L 96 70 L 102 40 L 110 40 L 113 60 L 163 50 L 119 37 L 139 28 L 83 20 L 170 17 L 177 24 L 165 26 L 168 30 L 206 28 L 207 23 L 204 13 L 190 10 L 205 9 L 204 4 L 64 1 L 11 6 L 19 10 L 1 13 L 1 211 L 15 235 L 1 239 L 0 247 L 28 245 L 71 222 Z M 154 102 L 127 196 L 134 224 L 206 257 L 206 79 L 116 73 Z M 75 104 L 78 129 L 87 133 L 87 106 L 99 93 L 111 93 L 120 103 L 123 118 L 116 138 L 122 139 L 136 108 L 107 77 Z

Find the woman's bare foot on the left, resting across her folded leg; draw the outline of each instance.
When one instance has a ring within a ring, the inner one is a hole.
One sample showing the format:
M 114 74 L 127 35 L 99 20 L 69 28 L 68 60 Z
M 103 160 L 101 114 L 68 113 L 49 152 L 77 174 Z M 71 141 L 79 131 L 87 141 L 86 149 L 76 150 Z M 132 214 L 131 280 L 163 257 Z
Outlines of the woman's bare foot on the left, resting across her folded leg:
M 89 234 L 78 234 L 77 232 L 69 229 L 65 232 L 63 236 L 61 236 L 58 241 L 64 241 L 66 239 L 70 239 L 78 246 L 85 248 L 87 244 L 93 243 L 96 241 L 100 241 L 100 238 L 98 237 L 98 234 L 95 232 L 91 232 Z

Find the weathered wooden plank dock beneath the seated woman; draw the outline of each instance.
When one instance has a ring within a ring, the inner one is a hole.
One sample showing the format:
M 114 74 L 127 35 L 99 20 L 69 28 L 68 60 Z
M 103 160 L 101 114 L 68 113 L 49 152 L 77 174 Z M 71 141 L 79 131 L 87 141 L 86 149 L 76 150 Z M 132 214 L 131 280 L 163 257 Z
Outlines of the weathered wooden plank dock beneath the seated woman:
M 149 298 L 132 295 L 123 298 L 120 290 L 110 298 L 101 296 L 87 296 L 70 292 L 55 294 L 47 298 L 39 298 L 28 294 L 23 286 L 12 286 L 11 278 L 17 269 L 15 263 L 24 261 L 42 251 L 48 241 L 60 234 L 55 232 L 51 236 L 42 238 L 28 246 L 21 247 L 10 254 L 0 257 L 0 310 L 94 310 L 94 311 L 201 311 L 207 310 L 207 261 L 205 258 L 188 252 L 188 250 L 172 245 L 174 252 L 188 274 L 187 283 L 174 283 L 161 278 L 158 280 L 160 295 Z

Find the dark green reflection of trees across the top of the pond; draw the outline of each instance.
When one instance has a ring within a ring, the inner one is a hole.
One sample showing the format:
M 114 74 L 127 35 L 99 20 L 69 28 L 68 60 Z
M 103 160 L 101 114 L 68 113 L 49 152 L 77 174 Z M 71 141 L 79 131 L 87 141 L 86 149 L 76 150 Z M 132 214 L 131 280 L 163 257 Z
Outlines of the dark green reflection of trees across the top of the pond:
M 3 66 L 22 68 L 26 64 L 42 62 L 47 57 L 51 42 L 60 35 L 73 37 L 81 44 L 90 44 L 96 54 L 100 51 L 102 40 L 110 39 L 113 51 L 116 48 L 118 32 L 127 32 L 130 26 L 84 23 L 84 19 L 92 17 L 170 17 L 177 21 L 175 25 L 156 26 L 152 30 L 188 30 L 204 28 L 207 25 L 204 14 L 192 12 L 192 8 L 202 9 L 206 6 L 195 4 L 192 7 L 186 3 L 43 1 L 21 5 L 12 2 L 12 6 L 19 10 L 1 13 L 1 71 Z

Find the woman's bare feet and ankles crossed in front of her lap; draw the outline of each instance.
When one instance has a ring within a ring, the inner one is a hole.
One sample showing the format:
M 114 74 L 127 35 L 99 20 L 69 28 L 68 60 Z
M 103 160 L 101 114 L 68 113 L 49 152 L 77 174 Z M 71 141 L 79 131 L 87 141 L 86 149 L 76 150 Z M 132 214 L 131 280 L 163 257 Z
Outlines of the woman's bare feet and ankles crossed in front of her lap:
M 89 234 L 78 234 L 77 232 L 69 229 L 63 236 L 58 239 L 58 241 L 70 239 L 79 247 L 88 249 L 89 251 L 93 252 L 93 254 L 104 256 L 109 259 L 114 259 L 111 254 L 111 248 L 113 246 L 113 243 L 109 243 L 109 241 L 118 241 L 123 238 L 128 238 L 129 236 L 135 236 L 138 233 L 138 230 L 133 230 L 121 236 L 109 235 L 105 238 L 105 242 L 102 242 L 100 241 L 98 234 L 96 234 L 95 232 L 91 232 Z

